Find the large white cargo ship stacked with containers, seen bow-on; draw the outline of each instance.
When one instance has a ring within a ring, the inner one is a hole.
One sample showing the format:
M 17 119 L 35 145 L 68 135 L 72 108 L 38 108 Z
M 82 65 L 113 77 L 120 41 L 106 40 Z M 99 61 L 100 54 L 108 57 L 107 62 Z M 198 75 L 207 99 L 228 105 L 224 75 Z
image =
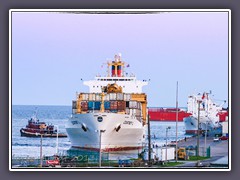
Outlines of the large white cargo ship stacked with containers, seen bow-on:
M 108 75 L 84 81 L 89 93 L 77 93 L 66 131 L 73 148 L 99 151 L 141 149 L 147 121 L 148 82 L 127 76 L 121 55 L 108 62 Z M 110 74 L 111 70 L 111 74 Z

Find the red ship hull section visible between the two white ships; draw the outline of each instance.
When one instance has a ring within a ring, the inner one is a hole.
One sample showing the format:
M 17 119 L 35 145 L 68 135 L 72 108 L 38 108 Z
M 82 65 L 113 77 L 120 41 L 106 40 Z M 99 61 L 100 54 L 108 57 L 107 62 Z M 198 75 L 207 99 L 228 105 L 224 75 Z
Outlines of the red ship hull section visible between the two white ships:
M 148 108 L 148 114 L 150 121 L 176 121 L 177 108 Z M 178 121 L 190 115 L 187 110 L 178 108 Z

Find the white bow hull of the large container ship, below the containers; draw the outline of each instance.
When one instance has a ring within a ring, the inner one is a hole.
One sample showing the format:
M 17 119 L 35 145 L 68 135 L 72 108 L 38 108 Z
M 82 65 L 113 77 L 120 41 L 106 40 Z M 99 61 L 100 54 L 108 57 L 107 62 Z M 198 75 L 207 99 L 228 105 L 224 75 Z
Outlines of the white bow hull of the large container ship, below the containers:
M 99 112 L 74 114 L 66 131 L 73 148 L 96 151 L 141 149 L 145 133 L 142 122 L 133 116 Z

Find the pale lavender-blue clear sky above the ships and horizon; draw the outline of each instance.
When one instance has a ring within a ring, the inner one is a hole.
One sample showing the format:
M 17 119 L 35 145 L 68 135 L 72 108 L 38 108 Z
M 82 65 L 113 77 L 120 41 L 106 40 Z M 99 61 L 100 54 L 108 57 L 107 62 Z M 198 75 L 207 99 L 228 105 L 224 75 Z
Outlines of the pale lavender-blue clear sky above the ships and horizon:
M 12 104 L 71 105 L 83 80 L 117 53 L 149 80 L 149 107 L 187 106 L 193 93 L 228 100 L 228 13 L 12 12 Z M 227 104 L 225 105 L 227 106 Z

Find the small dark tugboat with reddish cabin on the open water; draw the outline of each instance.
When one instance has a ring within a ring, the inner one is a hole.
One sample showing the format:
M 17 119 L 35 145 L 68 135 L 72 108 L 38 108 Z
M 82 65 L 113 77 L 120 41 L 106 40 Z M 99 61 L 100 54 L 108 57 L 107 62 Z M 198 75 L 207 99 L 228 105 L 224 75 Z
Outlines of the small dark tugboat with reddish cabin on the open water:
M 20 129 L 20 133 L 21 136 L 26 137 L 67 137 L 64 133 L 58 133 L 58 130 L 54 129 L 54 125 L 40 122 L 36 117 L 29 119 L 26 127 Z

